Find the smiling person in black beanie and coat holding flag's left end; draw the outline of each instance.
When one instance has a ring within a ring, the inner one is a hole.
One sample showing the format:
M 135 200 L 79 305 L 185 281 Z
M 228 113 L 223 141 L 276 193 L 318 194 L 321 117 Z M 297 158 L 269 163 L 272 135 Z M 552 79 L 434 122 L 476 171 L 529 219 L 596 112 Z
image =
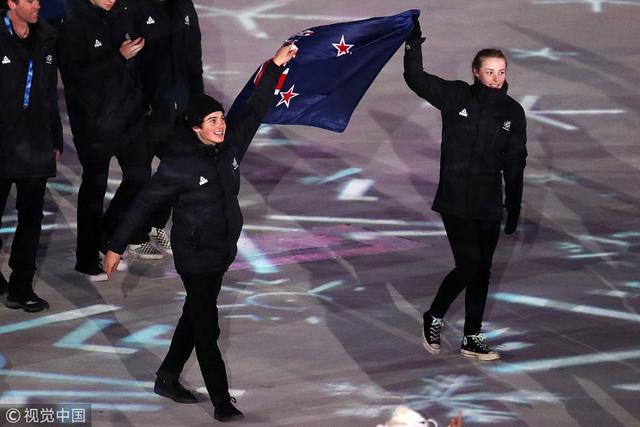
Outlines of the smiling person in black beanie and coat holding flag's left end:
M 195 402 L 179 376 L 195 347 L 214 417 L 230 421 L 242 417 L 229 396 L 226 368 L 217 339 L 220 335 L 216 299 L 222 278 L 237 253 L 242 230 L 238 204 L 240 164 L 263 117 L 273 105 L 273 93 L 283 65 L 297 50 L 282 46 L 237 120 L 224 118 L 215 99 L 191 99 L 186 123 L 176 132 L 172 147 L 158 171 L 140 192 L 112 236 L 105 271 L 116 269 L 129 236 L 143 229 L 150 214 L 164 204 L 173 207 L 171 244 L 176 270 L 187 291 L 182 316 L 167 356 L 158 369 L 156 393 L 183 403 Z

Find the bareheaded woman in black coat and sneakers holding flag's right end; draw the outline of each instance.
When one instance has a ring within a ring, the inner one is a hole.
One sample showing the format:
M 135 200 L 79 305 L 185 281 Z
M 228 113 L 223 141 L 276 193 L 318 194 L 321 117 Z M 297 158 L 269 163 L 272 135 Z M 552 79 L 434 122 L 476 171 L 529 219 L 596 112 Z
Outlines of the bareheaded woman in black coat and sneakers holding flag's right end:
M 423 41 L 415 17 L 405 45 L 404 78 L 442 116 L 440 180 L 433 210 L 442 215 L 455 268 L 424 313 L 422 341 L 429 352 L 440 352 L 442 319 L 466 289 L 461 353 L 495 360 L 499 354 L 480 331 L 503 210 L 506 207 L 506 234 L 516 230 L 520 216 L 526 118 L 520 104 L 507 95 L 507 61 L 501 51 L 483 49 L 476 54 L 474 83 L 469 85 L 424 72 Z

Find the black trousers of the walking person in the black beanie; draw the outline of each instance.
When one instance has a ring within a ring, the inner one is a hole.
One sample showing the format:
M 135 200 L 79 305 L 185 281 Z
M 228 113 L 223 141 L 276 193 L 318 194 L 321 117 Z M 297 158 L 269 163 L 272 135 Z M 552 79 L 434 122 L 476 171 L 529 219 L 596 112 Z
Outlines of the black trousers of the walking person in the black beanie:
M 157 372 L 159 376 L 178 378 L 195 347 L 204 384 L 214 405 L 218 400 L 229 398 L 227 371 L 217 343 L 220 336 L 217 299 L 223 275 L 181 275 L 187 298 L 169 351 Z

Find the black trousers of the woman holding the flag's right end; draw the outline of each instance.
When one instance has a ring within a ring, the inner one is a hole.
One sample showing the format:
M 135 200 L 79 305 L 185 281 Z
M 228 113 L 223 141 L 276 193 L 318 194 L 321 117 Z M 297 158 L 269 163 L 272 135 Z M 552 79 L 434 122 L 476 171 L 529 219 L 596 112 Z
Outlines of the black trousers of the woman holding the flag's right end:
M 429 312 L 443 318 L 460 292 L 466 289 L 464 334 L 474 335 L 482 329 L 500 221 L 442 215 L 442 222 L 456 266 L 442 281 Z

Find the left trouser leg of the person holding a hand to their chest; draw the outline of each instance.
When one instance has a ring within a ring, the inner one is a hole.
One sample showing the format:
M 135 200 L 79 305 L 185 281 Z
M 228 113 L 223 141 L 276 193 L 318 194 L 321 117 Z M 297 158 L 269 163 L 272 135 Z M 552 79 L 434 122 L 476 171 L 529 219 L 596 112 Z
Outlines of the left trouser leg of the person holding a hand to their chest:
M 76 266 L 79 272 L 99 275 L 98 251 L 104 240 L 102 212 L 109 179 L 111 156 L 105 153 L 78 151 L 82 165 L 82 183 L 78 191 L 78 235 Z

